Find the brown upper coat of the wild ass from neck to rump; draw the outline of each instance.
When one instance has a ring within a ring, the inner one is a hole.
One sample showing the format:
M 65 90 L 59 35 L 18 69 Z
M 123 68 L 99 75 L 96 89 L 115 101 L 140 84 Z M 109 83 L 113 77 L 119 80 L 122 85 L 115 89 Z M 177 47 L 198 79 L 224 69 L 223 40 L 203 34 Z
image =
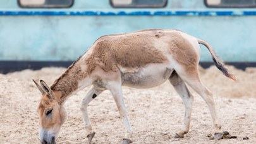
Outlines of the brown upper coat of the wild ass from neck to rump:
M 86 57 L 78 59 L 52 85 L 53 91 L 64 92 L 62 99 L 75 91 L 78 80 L 91 74 L 96 67 L 105 72 L 118 72 L 120 67 L 137 69 L 162 63 L 167 60 L 165 53 L 169 53 L 186 73 L 196 74 L 199 62 L 198 52 L 178 30 L 150 29 L 101 36 L 88 51 Z M 79 65 L 86 65 L 86 69 Z

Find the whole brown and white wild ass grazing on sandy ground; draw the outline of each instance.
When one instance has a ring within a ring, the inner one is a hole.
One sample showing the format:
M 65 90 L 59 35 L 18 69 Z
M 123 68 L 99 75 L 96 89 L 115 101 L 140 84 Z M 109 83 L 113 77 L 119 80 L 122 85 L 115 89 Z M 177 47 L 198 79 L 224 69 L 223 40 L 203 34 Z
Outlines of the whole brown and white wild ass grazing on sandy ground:
M 67 118 L 64 102 L 75 92 L 90 85 L 92 87 L 81 104 L 89 143 L 95 132 L 88 118 L 87 106 L 106 89 L 113 95 L 126 128 L 122 143 L 132 143 L 133 130 L 121 86 L 142 89 L 159 86 L 166 80 L 171 82 L 185 104 L 183 126 L 174 137 L 183 138 L 190 128 L 193 96 L 186 87 L 188 84 L 208 104 L 215 137 L 221 138 L 221 125 L 212 92 L 202 84 L 198 74 L 199 43 L 208 48 L 217 68 L 235 80 L 207 42 L 178 30 L 142 30 L 100 37 L 51 87 L 43 80 L 40 80 L 40 84 L 34 81 L 42 93 L 38 108 L 41 143 L 56 143 L 59 130 Z

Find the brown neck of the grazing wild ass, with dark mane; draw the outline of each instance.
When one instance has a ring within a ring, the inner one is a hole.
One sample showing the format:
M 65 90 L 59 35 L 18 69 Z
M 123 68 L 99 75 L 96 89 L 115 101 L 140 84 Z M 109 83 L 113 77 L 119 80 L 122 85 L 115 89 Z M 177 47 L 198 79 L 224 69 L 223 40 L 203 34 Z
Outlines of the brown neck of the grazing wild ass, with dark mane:
M 58 94 L 59 103 L 63 103 L 71 94 L 79 91 L 79 82 L 85 80 L 86 77 L 87 72 L 83 72 L 80 65 L 74 62 L 59 79 L 55 80 L 51 89 Z

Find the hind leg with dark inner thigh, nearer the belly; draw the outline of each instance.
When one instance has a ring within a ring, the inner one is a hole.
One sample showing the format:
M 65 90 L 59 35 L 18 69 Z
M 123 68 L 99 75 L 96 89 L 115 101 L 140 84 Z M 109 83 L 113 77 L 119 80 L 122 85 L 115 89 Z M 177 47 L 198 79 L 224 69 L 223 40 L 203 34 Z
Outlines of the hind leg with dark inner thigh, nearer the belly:
M 174 86 L 174 89 L 180 95 L 181 99 L 185 104 L 185 116 L 183 121 L 183 126 L 178 133 L 174 136 L 174 138 L 184 138 L 184 135 L 188 133 L 190 128 L 190 119 L 192 113 L 192 103 L 193 96 L 188 91 L 185 82 L 181 79 L 181 77 L 174 71 L 171 77 L 169 77 L 169 81 Z

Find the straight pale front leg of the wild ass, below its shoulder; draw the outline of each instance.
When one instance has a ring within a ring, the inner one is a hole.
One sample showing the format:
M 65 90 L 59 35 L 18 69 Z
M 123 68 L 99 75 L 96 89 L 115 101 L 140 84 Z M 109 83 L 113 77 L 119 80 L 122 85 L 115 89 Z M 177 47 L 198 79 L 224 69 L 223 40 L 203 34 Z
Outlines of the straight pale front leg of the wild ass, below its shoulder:
M 118 107 L 119 114 L 123 119 L 123 122 L 126 128 L 125 138 L 123 138 L 122 144 L 132 143 L 131 135 L 133 133 L 133 130 L 131 128 L 129 118 L 127 116 L 125 101 L 123 99 L 123 94 L 122 94 L 121 82 L 116 82 L 116 81 L 109 82 L 108 88 L 114 97 L 114 101 L 116 102 L 116 106 Z

